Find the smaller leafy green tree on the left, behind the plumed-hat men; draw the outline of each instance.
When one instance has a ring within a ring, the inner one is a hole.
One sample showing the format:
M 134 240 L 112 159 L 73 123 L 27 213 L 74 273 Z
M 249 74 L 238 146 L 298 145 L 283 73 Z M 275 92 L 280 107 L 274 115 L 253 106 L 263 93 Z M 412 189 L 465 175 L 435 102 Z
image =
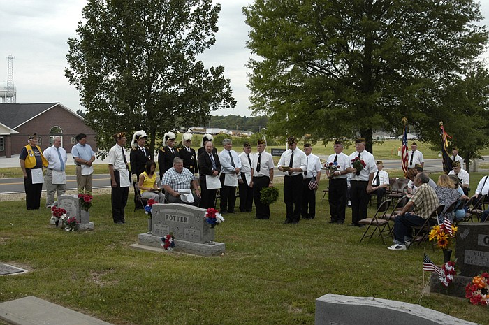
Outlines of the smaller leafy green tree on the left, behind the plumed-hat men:
M 220 10 L 212 0 L 89 0 L 65 73 L 99 149 L 113 145 L 113 133 L 143 129 L 154 152 L 156 138 L 182 121 L 205 123 L 211 110 L 235 107 L 224 67 L 196 59 L 214 45 Z

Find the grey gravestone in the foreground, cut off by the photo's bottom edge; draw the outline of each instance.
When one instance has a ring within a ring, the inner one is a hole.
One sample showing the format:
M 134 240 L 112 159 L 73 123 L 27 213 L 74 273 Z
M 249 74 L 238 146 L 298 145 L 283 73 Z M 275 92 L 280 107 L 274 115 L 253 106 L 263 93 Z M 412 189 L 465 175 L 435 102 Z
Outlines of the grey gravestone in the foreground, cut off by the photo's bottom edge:
M 401 301 L 326 294 L 316 299 L 316 325 L 476 325 L 436 310 Z

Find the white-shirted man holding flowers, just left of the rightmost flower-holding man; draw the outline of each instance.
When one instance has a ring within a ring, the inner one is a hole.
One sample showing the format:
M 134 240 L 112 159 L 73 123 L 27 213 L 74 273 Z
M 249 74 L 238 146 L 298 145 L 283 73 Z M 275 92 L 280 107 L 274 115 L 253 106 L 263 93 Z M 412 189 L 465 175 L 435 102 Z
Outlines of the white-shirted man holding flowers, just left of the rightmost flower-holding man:
M 343 153 L 342 141 L 336 140 L 333 145 L 334 154 L 326 160 L 326 175 L 330 180 L 328 190 L 328 203 L 330 205 L 330 224 L 343 224 L 346 210 L 346 197 L 348 196 L 348 174 L 346 168 L 350 166 L 350 158 Z

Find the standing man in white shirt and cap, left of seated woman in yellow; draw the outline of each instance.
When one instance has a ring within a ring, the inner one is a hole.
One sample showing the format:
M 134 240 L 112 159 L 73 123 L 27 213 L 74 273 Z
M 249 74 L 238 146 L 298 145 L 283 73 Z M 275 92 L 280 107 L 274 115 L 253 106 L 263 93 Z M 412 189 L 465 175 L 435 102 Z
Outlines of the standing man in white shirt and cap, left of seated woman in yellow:
M 115 224 L 125 224 L 124 208 L 126 208 L 129 186 L 131 185 L 126 150 L 124 148 L 127 141 L 126 133 L 115 133 L 112 138 L 114 138 L 116 143 L 110 148 L 107 158 L 110 185 L 112 186 L 112 219 L 114 219 Z

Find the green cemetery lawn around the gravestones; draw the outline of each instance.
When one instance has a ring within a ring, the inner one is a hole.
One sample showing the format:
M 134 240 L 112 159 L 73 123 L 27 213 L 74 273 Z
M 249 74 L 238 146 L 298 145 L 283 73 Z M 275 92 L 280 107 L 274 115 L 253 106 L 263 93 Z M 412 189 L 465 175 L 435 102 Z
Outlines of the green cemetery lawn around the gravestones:
M 471 174 L 472 193 L 482 175 Z M 426 243 L 391 252 L 379 238 L 358 243 L 364 229 L 346 226 L 350 209 L 345 225 L 328 223 L 326 186 L 321 181 L 316 219 L 298 225 L 282 224 L 281 184 L 270 220 L 256 220 L 254 212 L 226 215 L 216 229 L 216 240 L 226 243 L 221 257 L 131 249 L 147 231 L 132 194 L 122 226 L 112 222 L 110 196 L 96 196 L 95 230 L 85 233 L 54 229 L 48 209 L 2 202 L 0 262 L 29 273 L 0 277 L 0 301 L 36 296 L 124 325 L 314 324 L 315 299 L 328 293 L 418 303 L 430 276 L 423 251 L 438 265 L 441 251 Z M 425 294 L 420 305 L 489 324 L 487 308 L 465 299 Z

